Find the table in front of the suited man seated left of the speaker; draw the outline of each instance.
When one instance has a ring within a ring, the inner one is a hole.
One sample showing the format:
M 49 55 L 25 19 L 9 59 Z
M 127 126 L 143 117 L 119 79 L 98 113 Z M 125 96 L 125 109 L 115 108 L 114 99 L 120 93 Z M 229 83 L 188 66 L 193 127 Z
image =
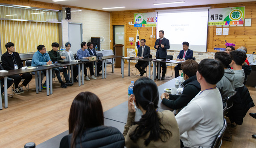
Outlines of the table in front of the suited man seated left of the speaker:
M 136 60 L 136 61 L 146 61 L 148 62 L 148 76 L 151 78 L 150 74 L 150 68 L 151 68 L 151 61 L 153 61 L 150 58 L 121 58 L 121 73 L 122 73 L 122 78 L 124 78 L 124 60 L 128 60 L 128 76 L 130 76 L 130 66 L 131 66 L 131 60 Z M 154 65 L 154 64 L 153 64 Z M 154 72 L 154 69 L 153 69 Z M 153 78 L 154 80 L 154 78 Z

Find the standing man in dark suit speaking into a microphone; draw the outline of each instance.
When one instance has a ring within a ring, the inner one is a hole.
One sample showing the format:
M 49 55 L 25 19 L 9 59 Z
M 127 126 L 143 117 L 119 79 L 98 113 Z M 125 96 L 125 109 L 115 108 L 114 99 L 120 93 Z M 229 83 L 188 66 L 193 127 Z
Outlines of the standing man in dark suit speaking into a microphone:
M 159 35 L 159 38 L 155 42 L 155 46 L 154 46 L 154 48 L 157 49 L 156 58 L 166 60 L 166 57 L 167 57 L 166 49 L 170 49 L 169 40 L 163 37 L 164 36 L 163 30 L 160 30 L 158 35 Z M 166 63 L 161 63 L 161 67 L 163 70 L 161 80 L 164 80 L 164 77 L 166 74 Z M 158 64 L 157 64 L 157 70 L 158 70 Z

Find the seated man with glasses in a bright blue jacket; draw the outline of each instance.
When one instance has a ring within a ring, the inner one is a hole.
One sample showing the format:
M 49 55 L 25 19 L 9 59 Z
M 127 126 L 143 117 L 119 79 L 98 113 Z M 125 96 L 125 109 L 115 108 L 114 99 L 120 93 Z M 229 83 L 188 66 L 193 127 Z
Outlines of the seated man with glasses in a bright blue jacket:
M 44 45 L 38 45 L 37 46 L 38 51 L 35 52 L 35 54 L 32 57 L 32 63 L 31 66 L 32 67 L 36 67 L 36 66 L 41 66 L 41 65 L 50 65 L 52 64 L 51 58 L 49 56 L 49 54 L 46 52 L 46 48 Z M 39 75 L 39 72 L 37 72 Z M 35 72 L 32 72 L 32 74 L 35 75 Z M 42 70 L 41 71 L 41 82 L 44 79 L 44 75 L 46 75 L 46 71 Z M 38 77 L 39 78 L 39 77 Z M 40 87 L 41 84 L 39 84 Z M 46 88 L 46 81 L 44 81 L 43 86 L 41 86 L 42 88 Z

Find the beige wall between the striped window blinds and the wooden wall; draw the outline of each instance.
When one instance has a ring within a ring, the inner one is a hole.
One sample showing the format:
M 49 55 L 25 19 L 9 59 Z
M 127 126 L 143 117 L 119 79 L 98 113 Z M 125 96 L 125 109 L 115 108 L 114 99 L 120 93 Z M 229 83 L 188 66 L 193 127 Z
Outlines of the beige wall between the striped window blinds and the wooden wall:
M 89 42 L 91 37 L 105 38 L 105 42 L 101 44 L 101 49 L 110 49 L 110 13 L 97 12 L 84 9 L 71 8 L 71 11 L 82 10 L 79 12 L 71 12 L 71 20 L 65 20 L 65 8 L 63 7 L 62 15 L 62 37 L 63 43 L 68 42 L 68 22 L 82 23 L 83 41 Z

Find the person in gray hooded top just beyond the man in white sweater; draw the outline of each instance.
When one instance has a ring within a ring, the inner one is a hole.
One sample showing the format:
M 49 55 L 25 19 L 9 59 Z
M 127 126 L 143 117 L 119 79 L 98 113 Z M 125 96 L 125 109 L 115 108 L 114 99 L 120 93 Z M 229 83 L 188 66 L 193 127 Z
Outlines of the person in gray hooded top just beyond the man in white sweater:
M 216 87 L 221 93 L 222 101 L 226 102 L 228 96 L 235 93 L 234 87 L 234 78 L 235 73 L 234 70 L 227 68 L 231 63 L 232 59 L 229 54 L 226 52 L 216 52 L 214 55 L 215 60 L 220 61 L 224 67 L 224 75 L 220 81 L 216 84 Z

